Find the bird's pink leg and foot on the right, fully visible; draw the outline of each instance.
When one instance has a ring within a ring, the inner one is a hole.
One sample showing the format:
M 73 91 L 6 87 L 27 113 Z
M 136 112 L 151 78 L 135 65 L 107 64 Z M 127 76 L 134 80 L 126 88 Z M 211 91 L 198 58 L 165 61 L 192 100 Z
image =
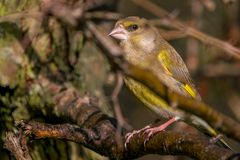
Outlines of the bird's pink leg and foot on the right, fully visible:
M 147 139 L 144 141 L 144 146 L 145 144 L 148 142 L 148 140 L 156 133 L 163 131 L 164 129 L 166 129 L 169 125 L 171 125 L 172 123 L 176 122 L 180 120 L 179 117 L 175 116 L 171 119 L 169 119 L 167 122 L 161 124 L 158 127 L 154 127 L 154 128 L 147 128 L 145 129 L 144 133 L 147 134 Z

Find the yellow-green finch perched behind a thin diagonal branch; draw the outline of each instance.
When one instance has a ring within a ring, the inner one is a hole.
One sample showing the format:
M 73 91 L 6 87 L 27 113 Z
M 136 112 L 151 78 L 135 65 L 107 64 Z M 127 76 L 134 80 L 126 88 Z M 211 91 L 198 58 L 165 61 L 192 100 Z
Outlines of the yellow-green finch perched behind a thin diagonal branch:
M 141 68 L 147 68 L 157 75 L 171 91 L 201 101 L 201 96 L 183 59 L 147 19 L 136 16 L 120 19 L 116 22 L 109 36 L 120 41 L 124 51 L 123 56 L 127 62 Z M 212 137 L 218 137 L 216 130 L 203 119 L 180 110 L 175 103 L 168 104 L 164 98 L 141 82 L 128 76 L 124 76 L 124 82 L 145 106 L 161 118 L 167 119 L 167 122 L 160 126 L 144 128 L 144 132 L 149 137 L 180 120 L 203 130 L 204 133 Z M 130 141 L 131 137 L 131 134 L 127 136 L 127 142 Z M 219 141 L 230 148 L 222 138 L 219 138 Z

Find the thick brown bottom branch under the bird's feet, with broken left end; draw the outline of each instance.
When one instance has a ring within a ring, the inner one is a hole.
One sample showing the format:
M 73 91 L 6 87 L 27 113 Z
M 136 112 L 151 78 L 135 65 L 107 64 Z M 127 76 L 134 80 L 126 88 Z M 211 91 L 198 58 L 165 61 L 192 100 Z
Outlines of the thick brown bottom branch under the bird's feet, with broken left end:
M 91 120 L 90 120 L 91 121 Z M 24 129 L 26 134 L 30 134 L 37 139 L 40 138 L 55 138 L 74 141 L 93 149 L 94 151 L 105 155 L 113 156 L 114 152 L 118 153 L 121 150 L 114 150 L 111 146 L 102 145 L 103 139 L 98 139 L 91 136 L 92 132 L 82 129 L 70 124 L 50 125 L 39 123 L 35 121 L 21 122 L 21 129 Z M 103 129 L 102 129 L 103 130 Z M 112 137 L 113 132 L 106 130 L 106 135 Z M 101 132 L 103 133 L 103 132 Z M 101 137 L 101 133 L 96 134 Z M 182 132 L 159 132 L 154 135 L 146 144 L 145 140 L 147 135 L 144 131 L 134 134 L 131 141 L 127 144 L 127 149 L 122 152 L 120 157 L 111 157 L 113 159 L 134 159 L 147 154 L 160 154 L 160 155 L 188 155 L 192 158 L 205 159 L 205 160 L 218 160 L 227 159 L 233 155 L 233 152 L 220 148 L 213 143 L 210 143 L 206 138 L 196 136 L 194 134 L 187 134 Z M 111 139 L 114 140 L 114 139 Z M 109 139 L 110 141 L 110 139 Z M 92 145 L 94 144 L 94 145 Z M 111 150 L 106 154 L 104 150 Z M 211 156 L 210 156 L 211 155 Z

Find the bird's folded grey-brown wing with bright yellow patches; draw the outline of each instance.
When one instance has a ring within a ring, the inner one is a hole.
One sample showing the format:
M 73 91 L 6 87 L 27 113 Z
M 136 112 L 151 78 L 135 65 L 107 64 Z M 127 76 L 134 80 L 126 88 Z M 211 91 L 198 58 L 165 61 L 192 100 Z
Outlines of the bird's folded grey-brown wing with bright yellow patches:
M 192 97 L 198 97 L 198 93 L 188 69 L 177 51 L 168 45 L 167 47 L 160 49 L 157 56 L 165 69 L 166 74 L 181 82 L 184 90 L 186 90 Z

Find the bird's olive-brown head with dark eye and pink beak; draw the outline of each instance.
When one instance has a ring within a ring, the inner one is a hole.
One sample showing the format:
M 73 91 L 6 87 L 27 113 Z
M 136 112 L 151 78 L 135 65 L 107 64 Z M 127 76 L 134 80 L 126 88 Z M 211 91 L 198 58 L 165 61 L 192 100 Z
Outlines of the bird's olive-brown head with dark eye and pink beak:
M 128 40 L 129 38 L 143 35 L 149 27 L 147 20 L 139 17 L 127 17 L 117 21 L 110 36 L 119 40 Z

